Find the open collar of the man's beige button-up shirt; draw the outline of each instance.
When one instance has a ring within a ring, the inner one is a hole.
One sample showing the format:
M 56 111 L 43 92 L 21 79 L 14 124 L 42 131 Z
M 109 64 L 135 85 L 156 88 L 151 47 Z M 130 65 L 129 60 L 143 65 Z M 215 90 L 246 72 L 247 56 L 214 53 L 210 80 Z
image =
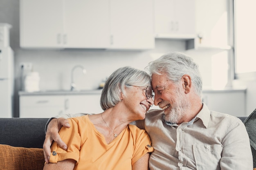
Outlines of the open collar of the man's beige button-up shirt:
M 169 126 L 178 126 L 177 124 L 172 124 L 171 122 L 165 121 L 164 119 L 164 113 L 161 115 L 162 120 L 165 124 L 169 125 Z M 210 119 L 210 110 L 208 109 L 208 107 L 206 106 L 206 104 L 203 103 L 203 107 L 202 110 L 200 110 L 200 112 L 198 113 L 198 115 L 196 115 L 191 121 L 188 122 L 187 125 L 192 125 L 194 123 L 195 120 L 201 119 L 205 128 L 208 127 L 209 124 L 209 119 Z

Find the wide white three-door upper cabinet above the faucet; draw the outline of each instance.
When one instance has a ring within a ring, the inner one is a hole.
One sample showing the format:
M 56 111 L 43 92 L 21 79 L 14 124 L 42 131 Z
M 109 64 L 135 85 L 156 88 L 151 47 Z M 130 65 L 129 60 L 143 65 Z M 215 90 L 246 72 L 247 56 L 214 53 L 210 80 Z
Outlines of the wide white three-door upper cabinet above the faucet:
M 20 0 L 24 48 L 152 49 L 153 0 Z

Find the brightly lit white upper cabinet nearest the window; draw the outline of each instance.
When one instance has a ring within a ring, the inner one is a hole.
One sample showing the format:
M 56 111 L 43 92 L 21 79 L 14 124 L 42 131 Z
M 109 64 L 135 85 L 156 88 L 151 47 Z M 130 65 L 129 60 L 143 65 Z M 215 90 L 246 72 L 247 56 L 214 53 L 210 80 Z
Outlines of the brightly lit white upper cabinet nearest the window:
M 217 52 L 231 49 L 228 42 L 228 30 L 231 30 L 228 3 L 223 0 L 195 0 L 195 4 L 195 49 Z

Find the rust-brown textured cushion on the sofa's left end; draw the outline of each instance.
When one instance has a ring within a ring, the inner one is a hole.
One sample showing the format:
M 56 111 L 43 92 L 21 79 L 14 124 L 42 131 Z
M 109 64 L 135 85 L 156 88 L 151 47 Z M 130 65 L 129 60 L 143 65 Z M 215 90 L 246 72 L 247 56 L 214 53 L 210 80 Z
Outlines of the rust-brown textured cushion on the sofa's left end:
M 43 170 L 42 148 L 23 148 L 0 144 L 0 169 Z

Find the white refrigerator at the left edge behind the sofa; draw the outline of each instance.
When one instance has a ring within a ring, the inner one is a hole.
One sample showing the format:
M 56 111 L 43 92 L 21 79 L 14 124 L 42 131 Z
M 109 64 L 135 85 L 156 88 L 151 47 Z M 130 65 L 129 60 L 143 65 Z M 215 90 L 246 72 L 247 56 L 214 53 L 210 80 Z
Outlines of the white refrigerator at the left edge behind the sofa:
M 9 46 L 10 24 L 0 23 L 0 118 L 13 117 L 14 55 Z

